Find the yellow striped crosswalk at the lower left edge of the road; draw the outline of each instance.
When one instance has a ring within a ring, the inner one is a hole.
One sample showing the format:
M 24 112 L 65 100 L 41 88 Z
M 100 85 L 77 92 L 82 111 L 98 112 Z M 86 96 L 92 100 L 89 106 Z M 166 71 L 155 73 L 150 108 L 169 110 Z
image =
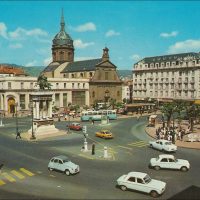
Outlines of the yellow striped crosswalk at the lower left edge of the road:
M 8 172 L 0 173 L 0 186 L 7 183 L 13 183 L 18 180 L 23 180 L 27 176 L 34 176 L 35 174 L 25 168 L 19 168 L 18 170 L 11 170 Z

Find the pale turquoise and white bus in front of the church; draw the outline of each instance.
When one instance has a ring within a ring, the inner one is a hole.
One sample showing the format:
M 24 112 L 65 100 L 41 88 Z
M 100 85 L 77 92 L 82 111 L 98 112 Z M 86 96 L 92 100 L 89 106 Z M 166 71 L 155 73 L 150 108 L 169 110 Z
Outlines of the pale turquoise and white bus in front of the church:
M 108 119 L 117 119 L 115 110 L 90 110 L 81 113 L 81 121 L 101 120 L 102 116 L 107 116 Z

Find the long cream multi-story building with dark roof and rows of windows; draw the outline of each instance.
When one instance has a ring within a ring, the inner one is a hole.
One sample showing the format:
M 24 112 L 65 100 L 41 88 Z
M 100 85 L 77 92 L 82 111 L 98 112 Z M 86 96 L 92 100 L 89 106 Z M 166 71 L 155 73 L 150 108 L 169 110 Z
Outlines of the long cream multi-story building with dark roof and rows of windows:
M 199 98 L 200 53 L 146 57 L 134 64 L 134 100 Z

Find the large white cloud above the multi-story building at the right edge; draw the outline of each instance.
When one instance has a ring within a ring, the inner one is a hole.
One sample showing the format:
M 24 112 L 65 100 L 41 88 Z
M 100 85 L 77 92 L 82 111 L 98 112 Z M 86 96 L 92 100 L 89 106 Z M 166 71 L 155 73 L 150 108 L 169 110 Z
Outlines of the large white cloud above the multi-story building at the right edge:
M 200 50 L 200 40 L 185 40 L 182 42 L 176 42 L 171 45 L 168 49 L 168 53 L 184 53 L 189 51 L 199 51 Z

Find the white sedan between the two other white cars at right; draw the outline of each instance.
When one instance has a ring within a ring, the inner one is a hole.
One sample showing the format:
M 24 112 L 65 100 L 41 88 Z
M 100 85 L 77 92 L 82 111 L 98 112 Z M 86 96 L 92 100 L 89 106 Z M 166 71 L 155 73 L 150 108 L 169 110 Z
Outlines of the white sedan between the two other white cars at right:
M 190 169 L 190 163 L 187 160 L 176 159 L 173 155 L 163 154 L 159 155 L 157 158 L 151 158 L 149 167 L 155 170 L 167 168 L 188 171 Z

